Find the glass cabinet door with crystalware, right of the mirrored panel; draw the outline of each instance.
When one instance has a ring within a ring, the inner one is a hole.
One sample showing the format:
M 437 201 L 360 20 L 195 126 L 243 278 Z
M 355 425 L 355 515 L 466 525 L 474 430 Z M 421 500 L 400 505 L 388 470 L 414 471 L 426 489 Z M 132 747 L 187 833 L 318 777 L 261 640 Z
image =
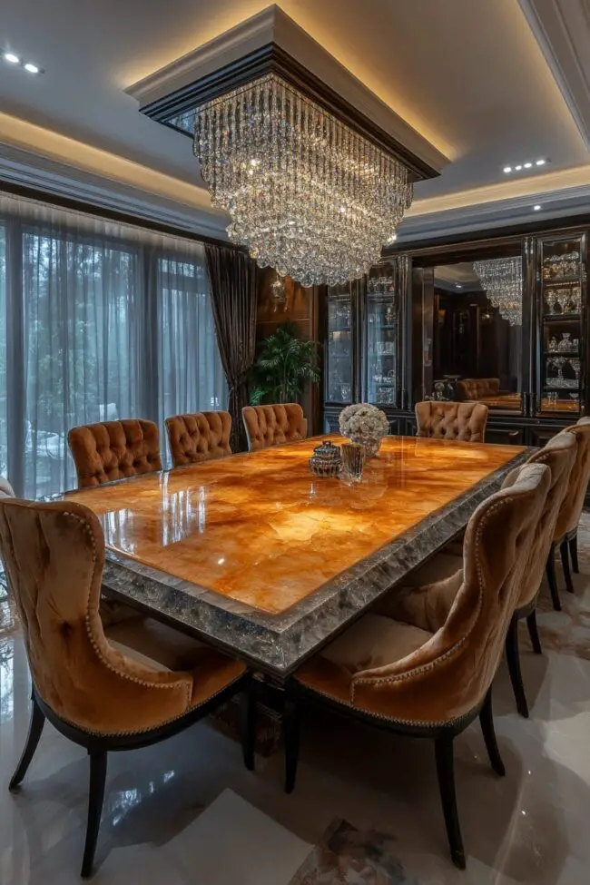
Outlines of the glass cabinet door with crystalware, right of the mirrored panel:
M 582 236 L 540 243 L 537 413 L 581 413 L 583 379 L 585 241 Z

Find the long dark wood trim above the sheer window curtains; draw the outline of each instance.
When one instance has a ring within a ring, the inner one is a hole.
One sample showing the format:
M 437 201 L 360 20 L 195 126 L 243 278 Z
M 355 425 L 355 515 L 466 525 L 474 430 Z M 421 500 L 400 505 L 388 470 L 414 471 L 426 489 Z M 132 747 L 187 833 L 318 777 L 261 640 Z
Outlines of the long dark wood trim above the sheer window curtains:
M 188 231 L 185 228 L 173 227 L 171 224 L 160 224 L 158 221 L 150 221 L 143 218 L 142 215 L 129 215 L 114 209 L 106 209 L 104 206 L 98 206 L 93 202 L 84 202 L 82 200 L 71 200 L 69 197 L 62 197 L 51 191 L 42 191 L 37 188 L 26 187 L 24 184 L 15 184 L 14 182 L 5 182 L 0 179 L 0 192 L 6 193 L 13 197 L 23 197 L 25 200 L 36 200 L 46 202 L 58 209 L 64 209 L 73 212 L 84 212 L 84 214 L 94 215 L 97 218 L 103 218 L 106 221 L 115 221 L 118 224 L 131 224 L 133 227 L 144 228 L 146 231 L 155 231 L 171 237 L 182 237 L 183 240 L 192 240 L 194 242 L 207 243 L 212 246 L 223 246 L 225 249 L 234 249 L 236 251 L 246 251 L 243 246 L 237 246 L 228 240 L 218 240 L 215 237 L 207 237 L 194 231 Z

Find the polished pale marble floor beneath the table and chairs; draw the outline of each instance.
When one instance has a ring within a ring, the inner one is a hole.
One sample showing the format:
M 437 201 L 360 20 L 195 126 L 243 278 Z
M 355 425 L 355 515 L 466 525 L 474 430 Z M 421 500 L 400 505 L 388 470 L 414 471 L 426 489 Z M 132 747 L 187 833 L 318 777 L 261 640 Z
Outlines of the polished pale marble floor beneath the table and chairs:
M 301 858 L 335 819 L 345 819 L 388 833 L 399 864 L 396 883 L 584 885 L 590 880 L 590 516 L 583 517 L 580 545 L 582 574 L 575 575 L 575 596 L 562 591 L 564 612 L 552 612 L 543 597 L 545 654 L 532 654 L 522 635 L 530 720 L 515 712 L 506 669 L 497 676 L 506 778 L 490 772 L 477 727 L 457 741 L 466 872 L 447 860 L 428 743 L 321 714 L 304 728 L 291 796 L 281 791 L 280 754 L 259 759 L 255 774 L 246 772 L 237 744 L 206 723 L 147 750 L 113 754 L 93 881 L 289 885 Z M 0 885 L 70 885 L 79 881 L 86 759 L 46 726 L 22 790 L 8 793 L 25 740 L 29 682 L 18 624 L 10 606 L 2 608 Z

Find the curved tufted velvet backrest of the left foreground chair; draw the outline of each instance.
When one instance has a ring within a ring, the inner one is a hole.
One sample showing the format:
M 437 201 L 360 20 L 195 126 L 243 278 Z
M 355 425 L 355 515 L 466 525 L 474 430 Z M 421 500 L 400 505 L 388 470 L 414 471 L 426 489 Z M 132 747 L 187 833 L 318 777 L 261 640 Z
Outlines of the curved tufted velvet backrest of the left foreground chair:
M 104 637 L 103 531 L 87 507 L 0 498 L 0 555 L 34 689 L 57 716 L 113 734 L 145 731 L 186 711 L 190 674 L 152 671 Z

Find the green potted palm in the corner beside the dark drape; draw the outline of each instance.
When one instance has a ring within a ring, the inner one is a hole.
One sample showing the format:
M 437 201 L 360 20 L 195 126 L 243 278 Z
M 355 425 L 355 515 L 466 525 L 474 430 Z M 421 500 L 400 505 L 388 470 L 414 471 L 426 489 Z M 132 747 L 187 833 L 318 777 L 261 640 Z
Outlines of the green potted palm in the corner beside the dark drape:
M 320 380 L 320 345 L 302 341 L 292 322 L 282 323 L 261 342 L 253 369 L 251 405 L 297 402 L 308 382 Z

